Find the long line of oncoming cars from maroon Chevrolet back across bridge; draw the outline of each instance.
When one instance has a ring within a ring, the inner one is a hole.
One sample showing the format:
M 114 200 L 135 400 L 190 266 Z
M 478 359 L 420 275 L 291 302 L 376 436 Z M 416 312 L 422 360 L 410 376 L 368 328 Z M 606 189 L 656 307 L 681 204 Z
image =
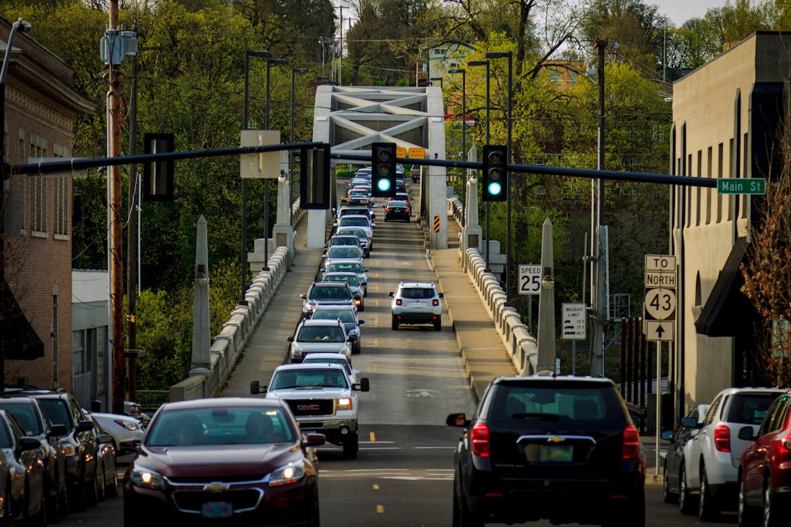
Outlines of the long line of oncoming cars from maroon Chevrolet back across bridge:
M 370 386 L 352 367 L 373 250 L 368 197 L 358 191 L 339 209 L 286 360 L 267 386 L 251 382 L 264 396 L 173 402 L 155 414 L 124 479 L 124 525 L 319 525 L 315 448 L 331 442 L 357 457 L 358 393 Z

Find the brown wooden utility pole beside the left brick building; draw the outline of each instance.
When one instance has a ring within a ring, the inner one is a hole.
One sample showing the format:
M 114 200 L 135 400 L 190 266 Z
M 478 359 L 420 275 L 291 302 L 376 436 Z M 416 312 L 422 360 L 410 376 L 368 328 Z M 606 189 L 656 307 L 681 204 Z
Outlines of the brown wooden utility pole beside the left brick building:
M 110 31 L 118 31 L 118 0 L 110 0 Z M 116 37 L 119 38 L 119 37 Z M 109 157 L 121 156 L 120 65 L 110 61 L 108 104 Z M 121 213 L 121 165 L 108 170 L 110 216 L 110 302 L 112 328 L 112 412 L 123 413 L 123 214 Z

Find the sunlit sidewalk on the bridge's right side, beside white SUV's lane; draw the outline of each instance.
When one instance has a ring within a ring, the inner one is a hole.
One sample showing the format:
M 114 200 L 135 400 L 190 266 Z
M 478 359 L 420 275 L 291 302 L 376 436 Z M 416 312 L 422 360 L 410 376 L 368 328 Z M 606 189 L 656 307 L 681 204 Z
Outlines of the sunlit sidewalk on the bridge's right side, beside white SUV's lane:
M 438 287 L 445 294 L 448 318 L 456 332 L 456 342 L 470 385 L 475 398 L 479 399 L 492 378 L 517 375 L 517 370 L 475 285 L 461 270 L 459 250 L 435 249 L 428 252 Z

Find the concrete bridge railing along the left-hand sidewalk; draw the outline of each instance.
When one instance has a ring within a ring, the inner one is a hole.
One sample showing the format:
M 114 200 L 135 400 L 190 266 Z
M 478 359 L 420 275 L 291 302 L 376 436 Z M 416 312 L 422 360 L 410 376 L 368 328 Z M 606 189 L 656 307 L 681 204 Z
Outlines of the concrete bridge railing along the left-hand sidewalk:
M 304 216 L 299 200 L 293 204 L 293 224 L 296 227 Z M 208 369 L 190 371 L 184 381 L 170 387 L 170 401 L 186 401 L 215 397 L 236 366 L 244 344 L 247 344 L 255 325 L 266 311 L 270 300 L 286 275 L 289 262 L 288 247 L 277 247 L 269 257 L 269 271 L 261 271 L 252 280 L 244 299 L 247 306 L 237 305 L 228 322 L 211 343 L 211 363 Z

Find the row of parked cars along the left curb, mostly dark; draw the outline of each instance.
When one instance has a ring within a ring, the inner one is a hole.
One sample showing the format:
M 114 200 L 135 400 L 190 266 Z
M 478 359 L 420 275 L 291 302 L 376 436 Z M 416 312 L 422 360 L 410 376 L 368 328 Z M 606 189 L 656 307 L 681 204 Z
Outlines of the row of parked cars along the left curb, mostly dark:
M 34 386 L 0 392 L 0 522 L 47 525 L 118 493 L 115 458 L 143 424 L 89 412 L 70 393 Z

